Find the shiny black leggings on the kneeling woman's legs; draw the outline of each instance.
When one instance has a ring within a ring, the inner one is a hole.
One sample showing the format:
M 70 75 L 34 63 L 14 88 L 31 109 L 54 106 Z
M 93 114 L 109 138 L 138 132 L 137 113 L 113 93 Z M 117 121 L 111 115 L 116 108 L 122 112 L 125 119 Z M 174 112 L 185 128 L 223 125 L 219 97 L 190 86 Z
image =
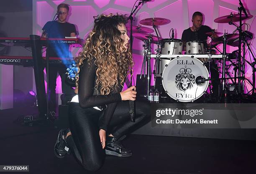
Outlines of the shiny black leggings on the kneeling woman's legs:
M 69 122 L 72 135 L 67 137 L 67 143 L 75 158 L 84 169 L 96 171 L 100 169 L 105 159 L 105 150 L 102 149 L 99 136 L 98 122 L 103 111 L 94 108 L 82 108 L 79 103 L 69 104 Z M 136 121 L 131 122 L 129 117 L 128 101 L 118 102 L 110 120 L 110 129 L 113 136 L 120 138 L 126 133 L 135 130 L 150 120 L 150 105 L 147 101 L 136 101 Z

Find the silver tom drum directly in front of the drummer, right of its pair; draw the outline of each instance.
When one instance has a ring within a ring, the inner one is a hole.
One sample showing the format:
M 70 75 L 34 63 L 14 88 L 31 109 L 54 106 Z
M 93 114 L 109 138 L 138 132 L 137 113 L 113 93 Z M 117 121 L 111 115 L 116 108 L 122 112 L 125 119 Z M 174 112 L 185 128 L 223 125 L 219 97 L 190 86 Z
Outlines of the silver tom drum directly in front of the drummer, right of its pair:
M 203 41 L 189 41 L 186 43 L 186 54 L 205 54 Z

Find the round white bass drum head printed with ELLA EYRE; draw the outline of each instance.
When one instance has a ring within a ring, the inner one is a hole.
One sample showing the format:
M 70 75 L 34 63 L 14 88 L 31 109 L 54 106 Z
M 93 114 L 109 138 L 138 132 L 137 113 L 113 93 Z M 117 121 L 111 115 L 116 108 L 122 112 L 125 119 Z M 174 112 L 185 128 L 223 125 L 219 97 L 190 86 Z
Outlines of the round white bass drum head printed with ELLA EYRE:
M 192 102 L 204 94 L 209 84 L 209 81 L 196 84 L 198 76 L 209 79 L 205 65 L 196 58 L 181 56 L 173 59 L 164 69 L 162 84 L 174 100 Z

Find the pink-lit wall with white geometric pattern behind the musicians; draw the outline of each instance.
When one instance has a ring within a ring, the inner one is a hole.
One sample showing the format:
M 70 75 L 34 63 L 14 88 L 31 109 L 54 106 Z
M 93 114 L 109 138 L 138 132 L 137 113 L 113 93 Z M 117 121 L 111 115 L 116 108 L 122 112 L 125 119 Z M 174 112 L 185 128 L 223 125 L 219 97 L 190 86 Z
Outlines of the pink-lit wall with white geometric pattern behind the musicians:
M 41 34 L 41 28 L 44 24 L 52 20 L 59 3 L 67 3 L 71 6 L 71 15 L 69 22 L 74 23 L 79 31 L 79 37 L 84 38 L 93 27 L 93 16 L 101 13 L 121 13 L 130 14 L 136 0 L 33 0 L 33 33 Z M 248 9 L 248 13 L 253 15 L 253 18 L 243 21 L 248 23 L 248 30 L 252 33 L 256 31 L 256 6 L 255 0 L 242 0 L 244 6 Z M 228 31 L 232 33 L 235 30 L 234 26 L 227 23 L 218 24 L 213 20 L 219 16 L 229 15 L 230 12 L 237 13 L 238 0 L 151 0 L 148 3 L 143 3 L 134 13 L 134 25 L 138 25 L 139 21 L 144 18 L 161 17 L 171 20 L 171 23 L 165 26 L 159 26 L 158 30 L 162 38 L 169 38 L 171 28 L 175 30 L 175 38 L 181 38 L 182 31 L 192 26 L 191 18 L 195 11 L 201 11 L 204 15 L 204 25 L 218 29 L 220 32 Z M 137 4 L 138 5 L 138 2 Z M 148 26 L 150 27 L 150 26 Z M 154 35 L 156 33 L 153 33 Z M 256 43 L 251 41 L 251 49 L 256 53 Z M 135 61 L 134 74 L 140 74 L 141 64 L 143 61 L 143 42 L 134 39 L 133 58 Z M 152 45 L 156 49 L 155 45 Z M 218 46 L 222 50 L 222 45 Z M 238 49 L 237 47 L 228 46 L 227 51 L 232 52 Z M 76 55 L 79 49 L 72 49 Z M 246 59 L 250 57 L 247 52 Z M 153 63 L 154 60 L 152 60 Z M 246 77 L 251 79 L 251 68 L 246 66 Z M 152 66 L 153 68 L 153 66 Z M 136 76 L 135 76 L 136 78 Z M 60 83 L 58 83 L 59 85 Z M 152 80 L 153 84 L 153 80 Z M 249 87 L 250 89 L 250 87 Z M 57 93 L 60 93 L 57 90 Z

